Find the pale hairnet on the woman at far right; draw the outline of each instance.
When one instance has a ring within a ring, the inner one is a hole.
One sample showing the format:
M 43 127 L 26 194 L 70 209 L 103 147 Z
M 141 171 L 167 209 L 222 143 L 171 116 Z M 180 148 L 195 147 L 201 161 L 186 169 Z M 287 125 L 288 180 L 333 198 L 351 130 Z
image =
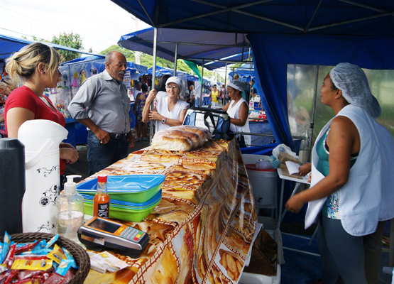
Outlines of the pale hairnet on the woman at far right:
M 381 116 L 381 106 L 373 97 L 366 75 L 359 66 L 339 63 L 329 72 L 329 77 L 349 104 L 362 107 L 373 119 Z

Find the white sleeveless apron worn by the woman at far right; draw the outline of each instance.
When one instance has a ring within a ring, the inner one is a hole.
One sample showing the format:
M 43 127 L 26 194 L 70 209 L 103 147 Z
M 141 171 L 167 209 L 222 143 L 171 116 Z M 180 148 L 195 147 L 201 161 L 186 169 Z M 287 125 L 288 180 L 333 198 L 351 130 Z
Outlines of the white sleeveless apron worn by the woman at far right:
M 350 169 L 349 180 L 338 190 L 341 224 L 352 236 L 364 236 L 376 231 L 378 221 L 394 217 L 394 191 L 390 187 L 394 184 L 393 136 L 360 107 L 348 105 L 336 116 L 351 119 L 361 140 L 359 157 Z M 331 122 L 320 131 L 316 141 L 327 131 Z M 311 187 L 324 178 L 316 169 L 318 159 L 315 143 L 312 150 Z M 327 197 L 324 197 L 309 202 L 305 228 L 313 224 L 326 200 Z

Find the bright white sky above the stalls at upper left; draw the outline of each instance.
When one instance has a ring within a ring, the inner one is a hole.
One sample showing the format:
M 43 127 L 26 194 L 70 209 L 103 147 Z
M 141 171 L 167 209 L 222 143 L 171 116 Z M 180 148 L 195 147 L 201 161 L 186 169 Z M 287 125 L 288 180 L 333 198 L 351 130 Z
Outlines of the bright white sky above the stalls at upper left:
M 0 34 L 52 40 L 77 33 L 84 50 L 99 53 L 117 45 L 121 35 L 149 26 L 110 0 L 0 0 Z

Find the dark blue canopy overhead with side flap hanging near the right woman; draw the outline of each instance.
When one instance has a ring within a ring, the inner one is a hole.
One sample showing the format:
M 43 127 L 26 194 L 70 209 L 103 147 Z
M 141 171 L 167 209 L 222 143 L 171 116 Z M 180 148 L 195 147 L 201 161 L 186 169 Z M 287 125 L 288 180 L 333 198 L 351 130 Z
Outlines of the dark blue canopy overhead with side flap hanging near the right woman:
M 154 28 L 248 34 L 256 87 L 278 143 L 294 148 L 288 122 L 288 64 L 351 62 L 394 69 L 390 0 L 112 0 Z M 234 19 L 233 21 L 229 19 Z

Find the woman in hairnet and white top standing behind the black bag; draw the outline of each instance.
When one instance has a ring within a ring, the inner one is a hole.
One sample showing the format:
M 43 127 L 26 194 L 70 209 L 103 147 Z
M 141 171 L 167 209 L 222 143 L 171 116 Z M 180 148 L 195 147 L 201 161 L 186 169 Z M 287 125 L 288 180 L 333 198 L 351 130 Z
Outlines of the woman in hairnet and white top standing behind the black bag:
M 230 130 L 234 132 L 251 132 L 249 130 L 249 107 L 246 100 L 242 97 L 242 92 L 246 88 L 246 82 L 234 80 L 227 85 L 227 92 L 231 101 L 226 104 L 223 109 L 230 116 Z M 236 134 L 239 146 L 241 148 L 251 146 L 251 136 Z

